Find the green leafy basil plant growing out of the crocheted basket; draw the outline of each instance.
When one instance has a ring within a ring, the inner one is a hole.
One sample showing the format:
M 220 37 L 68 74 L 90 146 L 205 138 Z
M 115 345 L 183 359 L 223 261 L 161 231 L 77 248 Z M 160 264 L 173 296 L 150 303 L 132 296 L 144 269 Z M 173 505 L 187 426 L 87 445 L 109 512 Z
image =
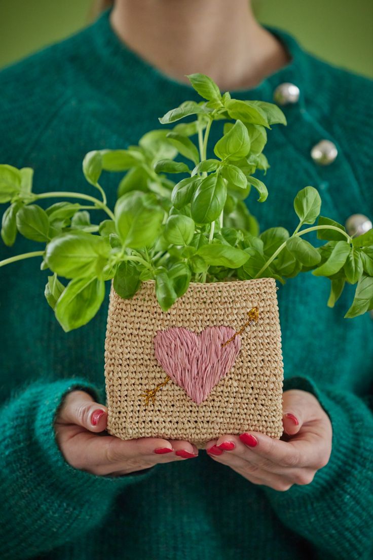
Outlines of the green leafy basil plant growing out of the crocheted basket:
M 32 169 L 0 166 L 0 203 L 10 203 L 2 218 L 3 242 L 13 245 L 18 232 L 42 245 L 0 267 L 40 257 L 41 269 L 51 271 L 46 300 L 65 331 L 96 315 L 111 280 L 123 298 L 133 297 L 141 281 L 154 280 L 159 305 L 167 311 L 190 282 L 271 277 L 284 283 L 311 270 L 330 279 L 330 307 L 346 282 L 357 284 L 347 318 L 372 309 L 373 231 L 350 237 L 342 225 L 320 216 L 320 196 L 312 186 L 295 197 L 299 223 L 292 233 L 271 227 L 259 234 L 244 202 L 251 189 L 259 203 L 267 199 L 266 185 L 254 174 L 268 168 L 267 129 L 286 124 L 282 111 L 271 103 L 221 95 L 204 74 L 188 78 L 202 100 L 168 111 L 159 119 L 167 128 L 151 130 L 128 150 L 87 153 L 83 172 L 97 197 L 35 194 Z M 225 121 L 223 136 L 207 159 L 210 129 L 218 120 Z M 125 172 L 114 209 L 101 186 L 103 171 Z M 41 199 L 58 202 L 43 209 L 36 204 Z M 92 223 L 97 209 L 106 220 Z M 322 246 L 304 239 L 311 231 L 325 241 Z

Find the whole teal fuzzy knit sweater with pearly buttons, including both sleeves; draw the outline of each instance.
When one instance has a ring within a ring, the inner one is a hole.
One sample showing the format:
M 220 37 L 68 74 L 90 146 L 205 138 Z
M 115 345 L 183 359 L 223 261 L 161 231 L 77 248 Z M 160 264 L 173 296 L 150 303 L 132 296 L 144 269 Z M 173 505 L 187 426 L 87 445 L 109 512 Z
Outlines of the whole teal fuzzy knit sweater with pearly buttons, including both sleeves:
M 292 82 L 300 100 L 284 108 L 287 127 L 268 134 L 270 196 L 261 206 L 250 195 L 251 211 L 262 229 L 294 230 L 294 195 L 313 185 L 323 215 L 342 223 L 353 213 L 372 218 L 371 83 L 272 32 L 289 49 L 291 63 L 234 96 L 272 101 L 276 86 Z M 4 69 L 0 99 L 0 161 L 33 167 L 36 192 L 92 194 L 81 170 L 86 152 L 136 143 L 160 127 L 158 116 L 196 95 L 122 45 L 105 13 L 72 38 Z M 212 144 L 216 138 L 213 128 Z M 310 150 L 324 138 L 339 153 L 321 167 Z M 105 176 L 110 204 L 119 179 Z M 0 258 L 37 248 L 18 239 L 13 248 L 1 246 Z M 74 388 L 105 403 L 107 305 L 87 326 L 65 334 L 44 301 L 46 276 L 39 259 L 0 270 L 1 558 L 371 558 L 373 321 L 369 314 L 343 319 L 351 287 L 334 309 L 326 305 L 326 278 L 303 274 L 278 291 L 284 389 L 317 396 L 332 421 L 333 451 L 311 484 L 277 492 L 255 486 L 205 451 L 121 478 L 69 466 L 53 421 Z

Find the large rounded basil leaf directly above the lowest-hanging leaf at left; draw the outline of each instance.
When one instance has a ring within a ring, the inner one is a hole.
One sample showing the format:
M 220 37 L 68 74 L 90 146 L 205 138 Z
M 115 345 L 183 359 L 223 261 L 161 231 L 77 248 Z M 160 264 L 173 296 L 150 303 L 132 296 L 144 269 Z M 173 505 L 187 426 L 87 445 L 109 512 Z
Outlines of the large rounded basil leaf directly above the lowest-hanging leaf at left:
M 64 278 L 87 277 L 103 268 L 110 245 L 107 238 L 72 231 L 54 237 L 46 246 L 45 262 Z

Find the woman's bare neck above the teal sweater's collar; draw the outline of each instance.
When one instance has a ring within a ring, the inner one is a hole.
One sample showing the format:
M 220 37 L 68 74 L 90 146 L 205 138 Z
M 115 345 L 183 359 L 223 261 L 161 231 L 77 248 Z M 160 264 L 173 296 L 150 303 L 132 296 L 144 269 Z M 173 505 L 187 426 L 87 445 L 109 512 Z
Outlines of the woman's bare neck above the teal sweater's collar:
M 289 62 L 248 0 L 116 0 L 111 25 L 131 50 L 181 82 L 201 72 L 223 90 L 251 88 Z

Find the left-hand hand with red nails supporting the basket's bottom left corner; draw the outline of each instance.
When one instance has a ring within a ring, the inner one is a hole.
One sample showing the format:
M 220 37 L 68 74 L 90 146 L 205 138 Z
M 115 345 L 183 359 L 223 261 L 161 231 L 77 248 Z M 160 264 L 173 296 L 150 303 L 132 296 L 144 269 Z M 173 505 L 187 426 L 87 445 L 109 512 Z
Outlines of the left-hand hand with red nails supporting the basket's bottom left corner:
M 55 421 L 56 440 L 65 460 L 75 469 L 97 475 L 123 475 L 198 455 L 187 441 L 140 438 L 123 441 L 101 434 L 106 429 L 107 408 L 85 391 L 65 397 Z

